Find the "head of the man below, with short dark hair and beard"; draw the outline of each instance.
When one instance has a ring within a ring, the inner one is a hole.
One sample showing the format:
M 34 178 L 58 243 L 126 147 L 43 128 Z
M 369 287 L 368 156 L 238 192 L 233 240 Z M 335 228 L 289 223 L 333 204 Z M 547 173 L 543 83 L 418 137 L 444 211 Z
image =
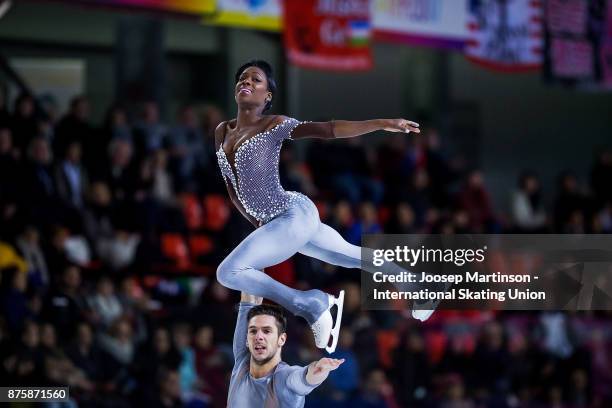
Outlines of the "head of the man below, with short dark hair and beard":
M 287 341 L 287 318 L 278 306 L 255 306 L 247 315 L 247 347 L 251 361 L 264 365 L 273 358 L 280 360 L 280 353 Z

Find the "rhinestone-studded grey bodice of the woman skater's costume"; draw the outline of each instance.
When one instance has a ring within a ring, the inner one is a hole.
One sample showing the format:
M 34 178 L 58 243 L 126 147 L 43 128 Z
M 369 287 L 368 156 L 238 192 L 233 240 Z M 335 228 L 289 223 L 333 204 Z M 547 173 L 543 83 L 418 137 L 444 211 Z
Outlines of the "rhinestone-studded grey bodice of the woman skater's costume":
M 223 150 L 223 143 L 217 150 L 221 174 L 231 183 L 246 212 L 263 223 L 282 213 L 294 200 L 304 197 L 285 191 L 278 175 L 283 140 L 291 139 L 291 132 L 300 123 L 293 118 L 285 119 L 242 143 L 234 154 L 236 174 Z

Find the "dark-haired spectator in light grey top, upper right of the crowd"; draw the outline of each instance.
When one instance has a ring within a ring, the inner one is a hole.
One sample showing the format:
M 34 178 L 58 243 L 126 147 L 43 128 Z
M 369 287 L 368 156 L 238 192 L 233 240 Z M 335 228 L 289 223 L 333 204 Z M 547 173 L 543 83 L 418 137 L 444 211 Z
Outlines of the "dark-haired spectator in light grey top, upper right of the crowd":
M 547 216 L 540 181 L 530 171 L 523 172 L 519 178 L 519 189 L 512 197 L 512 218 L 518 232 L 538 233 L 546 230 Z

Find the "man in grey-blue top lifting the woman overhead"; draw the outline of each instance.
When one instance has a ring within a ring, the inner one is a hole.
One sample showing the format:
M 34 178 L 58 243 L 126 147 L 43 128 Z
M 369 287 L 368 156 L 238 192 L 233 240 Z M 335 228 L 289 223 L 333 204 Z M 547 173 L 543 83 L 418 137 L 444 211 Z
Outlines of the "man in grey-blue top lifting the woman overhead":
M 241 293 L 228 407 L 303 407 L 306 395 L 344 360 L 322 358 L 306 367 L 283 362 L 287 319 L 280 307 L 261 302 L 261 297 Z

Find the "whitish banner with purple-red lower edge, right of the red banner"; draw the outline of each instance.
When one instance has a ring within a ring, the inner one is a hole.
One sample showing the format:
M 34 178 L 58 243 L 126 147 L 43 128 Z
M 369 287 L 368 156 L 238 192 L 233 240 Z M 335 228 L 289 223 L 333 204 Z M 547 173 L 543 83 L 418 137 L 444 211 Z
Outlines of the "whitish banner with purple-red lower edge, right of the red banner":
M 468 38 L 468 0 L 372 0 L 374 38 L 461 50 Z

